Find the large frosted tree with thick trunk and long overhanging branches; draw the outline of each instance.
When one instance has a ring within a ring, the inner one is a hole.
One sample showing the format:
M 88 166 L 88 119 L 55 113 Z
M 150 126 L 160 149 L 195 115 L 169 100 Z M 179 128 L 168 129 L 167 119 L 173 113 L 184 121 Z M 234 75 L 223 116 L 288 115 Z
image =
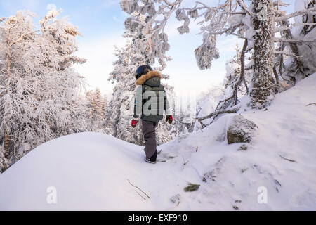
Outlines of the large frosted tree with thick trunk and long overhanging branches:
M 164 53 L 169 49 L 164 27 L 173 13 L 179 21 L 183 21 L 183 25 L 178 27 L 180 34 L 190 32 L 189 25 L 192 20 L 200 26 L 203 42 L 195 49 L 195 57 L 197 65 L 202 70 L 211 68 L 213 59 L 219 57 L 219 51 L 216 49 L 218 35 L 228 34 L 244 39 L 239 59 L 240 72 L 235 74 L 235 82 L 230 85 L 231 94 L 219 101 L 213 113 L 199 117 L 199 122 L 202 123 L 209 118 L 215 119 L 223 113 L 236 113 L 241 107 L 238 96 L 241 85 L 246 87 L 251 97 L 249 105 L 260 109 L 268 106 L 277 91 L 282 91 L 279 79 L 280 77 L 284 79 L 282 76 L 284 70 L 287 75 L 294 76 L 292 78 L 294 83 L 296 77 L 308 76 L 313 71 L 313 63 L 304 63 L 301 59 L 299 44 L 305 44 L 305 48 L 309 47 L 312 50 L 310 43 L 315 39 L 294 37 L 295 35 L 291 34 L 292 27 L 289 25 L 290 18 L 309 15 L 313 20 L 316 8 L 312 4 L 308 4 L 309 6 L 303 10 L 298 9 L 294 13 L 287 14 L 280 9 L 287 6 L 281 0 L 254 0 L 249 4 L 244 0 L 222 0 L 217 6 L 210 6 L 206 1 L 197 1 L 194 6 L 187 8 L 180 7 L 182 2 L 182 0 L 126 0 L 121 1 L 121 8 L 130 15 L 125 21 L 125 27 L 135 34 L 133 43 L 141 49 L 141 53 L 151 63 L 154 62 L 152 59 L 165 56 Z M 308 25 L 310 27 L 306 29 Z M 314 23 L 304 24 L 305 28 L 302 30 L 304 36 L 307 34 L 304 30 L 310 32 L 314 25 Z M 281 34 L 281 37 L 277 37 L 277 34 Z M 313 32 L 310 38 L 312 34 Z M 276 48 L 275 44 L 278 43 L 279 46 Z M 245 65 L 246 53 L 251 53 L 252 60 L 248 69 Z M 291 59 L 292 65 L 284 66 L 284 56 Z M 162 61 L 163 58 L 159 59 Z M 277 60 L 279 71 L 276 68 Z M 313 58 L 310 61 L 315 62 Z M 245 78 L 245 71 L 248 70 L 252 74 L 249 86 Z

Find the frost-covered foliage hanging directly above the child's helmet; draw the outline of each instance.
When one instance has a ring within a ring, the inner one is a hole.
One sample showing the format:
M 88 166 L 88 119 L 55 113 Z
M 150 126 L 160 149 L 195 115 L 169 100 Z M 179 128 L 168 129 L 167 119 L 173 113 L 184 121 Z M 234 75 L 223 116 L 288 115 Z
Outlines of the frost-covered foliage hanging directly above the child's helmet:
M 167 21 L 180 6 L 182 0 L 122 0 L 121 9 L 129 14 L 124 22 L 125 29 L 132 34 L 135 49 L 145 57 L 145 63 L 154 65 L 158 61 L 162 71 L 169 51 L 168 35 L 164 32 Z

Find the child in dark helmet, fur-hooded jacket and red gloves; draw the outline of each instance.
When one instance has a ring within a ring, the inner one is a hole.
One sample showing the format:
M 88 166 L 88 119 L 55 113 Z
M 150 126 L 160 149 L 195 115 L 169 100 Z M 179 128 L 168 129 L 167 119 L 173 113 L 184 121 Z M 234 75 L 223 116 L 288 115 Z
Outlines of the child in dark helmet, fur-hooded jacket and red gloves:
M 141 119 L 143 124 L 143 135 L 145 139 L 145 161 L 152 164 L 157 160 L 156 127 L 164 117 L 171 124 L 173 117 L 169 110 L 169 103 L 166 97 L 164 86 L 160 84 L 162 75 L 152 70 L 149 65 L 142 65 L 136 70 L 136 98 L 134 115 L 131 122 L 132 127 Z M 140 117 L 141 115 L 141 117 Z

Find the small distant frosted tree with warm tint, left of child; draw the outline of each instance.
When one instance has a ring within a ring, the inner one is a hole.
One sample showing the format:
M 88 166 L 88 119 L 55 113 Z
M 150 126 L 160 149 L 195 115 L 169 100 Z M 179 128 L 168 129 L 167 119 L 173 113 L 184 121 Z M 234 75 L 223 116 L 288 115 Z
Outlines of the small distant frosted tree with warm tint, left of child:
M 105 109 L 107 96 L 100 89 L 86 92 L 86 128 L 88 131 L 107 133 L 105 126 Z

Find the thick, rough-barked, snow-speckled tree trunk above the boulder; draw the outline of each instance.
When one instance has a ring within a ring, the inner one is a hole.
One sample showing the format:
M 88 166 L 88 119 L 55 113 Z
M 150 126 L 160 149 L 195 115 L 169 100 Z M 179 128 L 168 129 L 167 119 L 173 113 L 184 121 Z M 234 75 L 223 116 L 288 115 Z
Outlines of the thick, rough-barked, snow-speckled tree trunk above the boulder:
M 273 28 L 272 0 L 254 0 L 254 76 L 251 106 L 265 108 L 273 99 Z

